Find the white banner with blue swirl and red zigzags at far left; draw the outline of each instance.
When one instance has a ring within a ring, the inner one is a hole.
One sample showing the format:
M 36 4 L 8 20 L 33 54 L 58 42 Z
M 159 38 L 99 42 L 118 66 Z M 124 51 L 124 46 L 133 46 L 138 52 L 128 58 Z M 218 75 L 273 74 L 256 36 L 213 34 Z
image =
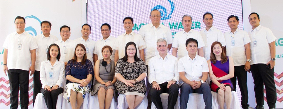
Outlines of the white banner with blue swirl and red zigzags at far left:
M 86 23 L 86 0 L 1 0 L 0 16 L 0 108 L 8 109 L 10 108 L 10 85 L 8 76 L 3 72 L 4 48 L 2 46 L 7 35 L 16 31 L 15 17 L 25 18 L 25 30 L 33 36 L 41 34 L 40 23 L 47 20 L 52 23 L 50 33 L 58 39 L 61 39 L 60 27 L 63 25 L 71 27 L 70 39 L 76 39 L 81 37 L 81 26 Z M 33 75 L 29 77 L 28 93 L 29 109 L 32 109 Z M 18 108 L 20 109 L 20 104 Z

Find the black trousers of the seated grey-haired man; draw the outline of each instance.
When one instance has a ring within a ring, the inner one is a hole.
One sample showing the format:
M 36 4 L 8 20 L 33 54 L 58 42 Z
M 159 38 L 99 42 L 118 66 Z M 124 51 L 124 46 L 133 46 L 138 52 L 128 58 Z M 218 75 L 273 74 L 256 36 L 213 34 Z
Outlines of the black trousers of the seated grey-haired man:
M 151 96 L 151 100 L 156 106 L 157 109 L 163 109 L 160 94 L 162 93 L 168 93 L 168 109 L 174 109 L 174 106 L 178 99 L 179 94 L 179 85 L 178 84 L 172 84 L 169 88 L 167 88 L 168 82 L 159 84 L 161 90 L 157 90 L 155 88 L 150 87 L 149 95 Z

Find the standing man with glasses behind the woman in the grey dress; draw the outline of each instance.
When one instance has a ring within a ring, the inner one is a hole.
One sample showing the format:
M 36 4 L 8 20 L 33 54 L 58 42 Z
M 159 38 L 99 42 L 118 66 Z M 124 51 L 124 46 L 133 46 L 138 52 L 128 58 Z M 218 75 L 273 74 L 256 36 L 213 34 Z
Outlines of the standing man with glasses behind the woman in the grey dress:
M 94 61 L 96 62 L 97 60 L 103 59 L 102 56 L 102 48 L 104 46 L 110 46 L 111 48 L 114 47 L 114 43 L 116 41 L 116 37 L 112 37 L 110 35 L 111 33 L 111 26 L 108 23 L 103 23 L 100 26 L 102 38 L 97 40 L 95 43 L 95 49 L 94 49 Z M 110 56 L 111 60 L 114 60 L 116 50 L 113 49 L 112 55 Z

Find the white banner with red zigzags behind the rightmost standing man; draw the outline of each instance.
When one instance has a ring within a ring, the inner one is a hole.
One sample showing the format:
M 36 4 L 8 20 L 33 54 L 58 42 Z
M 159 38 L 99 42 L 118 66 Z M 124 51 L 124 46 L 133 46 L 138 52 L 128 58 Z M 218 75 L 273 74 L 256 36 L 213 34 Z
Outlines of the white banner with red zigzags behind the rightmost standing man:
M 260 24 L 267 28 L 270 28 L 277 40 L 276 46 L 276 61 L 274 68 L 274 81 L 276 86 L 277 101 L 276 108 L 283 108 L 283 31 L 282 21 L 278 21 L 283 18 L 281 6 L 282 1 L 265 1 L 265 0 L 251 0 L 251 12 L 257 12 L 261 19 Z M 248 19 L 244 19 L 248 20 Z M 249 25 L 249 30 L 251 26 Z M 250 96 L 249 96 L 250 97 Z M 268 108 L 266 100 L 266 92 L 264 89 L 264 108 Z

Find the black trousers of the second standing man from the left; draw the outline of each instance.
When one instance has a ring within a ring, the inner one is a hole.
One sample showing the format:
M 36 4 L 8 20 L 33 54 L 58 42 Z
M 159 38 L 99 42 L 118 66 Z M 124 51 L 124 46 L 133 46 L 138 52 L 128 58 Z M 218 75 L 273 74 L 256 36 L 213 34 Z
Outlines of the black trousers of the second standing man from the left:
M 34 105 L 34 101 L 36 98 L 36 95 L 38 93 L 40 93 L 42 87 L 42 83 L 40 81 L 40 72 L 39 71 L 34 71 L 34 95 L 33 95 L 33 105 Z

